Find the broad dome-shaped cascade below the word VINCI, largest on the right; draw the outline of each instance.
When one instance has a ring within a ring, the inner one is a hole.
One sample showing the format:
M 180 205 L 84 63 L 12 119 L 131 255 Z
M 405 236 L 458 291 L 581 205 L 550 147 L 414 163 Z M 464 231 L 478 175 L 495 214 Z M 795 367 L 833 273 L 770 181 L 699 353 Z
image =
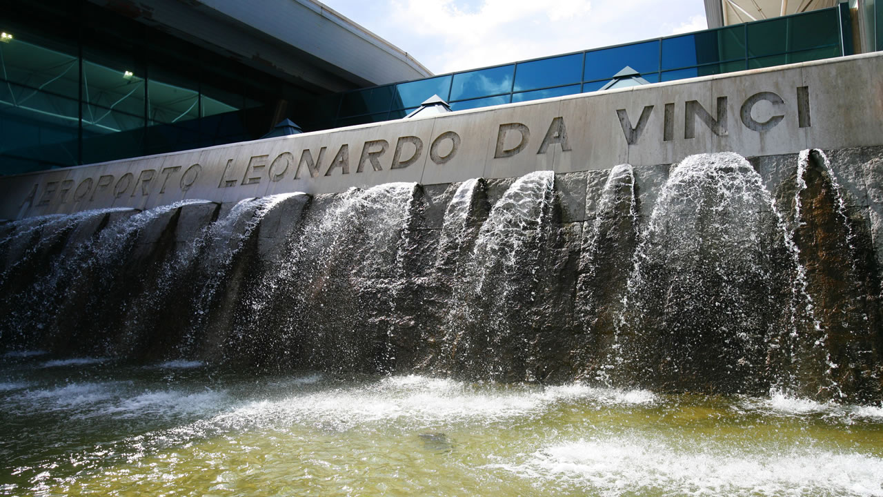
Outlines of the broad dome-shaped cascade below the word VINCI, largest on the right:
M 736 154 L 686 158 L 635 253 L 608 369 L 646 387 L 765 392 L 777 372 L 771 340 L 812 333 L 789 322 L 801 310 L 799 271 L 751 164 Z

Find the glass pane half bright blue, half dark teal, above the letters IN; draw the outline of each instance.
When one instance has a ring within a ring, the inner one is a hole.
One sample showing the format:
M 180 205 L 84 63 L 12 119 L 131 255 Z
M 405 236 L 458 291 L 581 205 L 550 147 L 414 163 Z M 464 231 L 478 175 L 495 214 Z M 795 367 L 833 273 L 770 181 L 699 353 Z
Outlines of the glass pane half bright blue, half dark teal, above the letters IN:
M 662 40 L 662 69 L 745 57 L 744 27 L 728 27 Z

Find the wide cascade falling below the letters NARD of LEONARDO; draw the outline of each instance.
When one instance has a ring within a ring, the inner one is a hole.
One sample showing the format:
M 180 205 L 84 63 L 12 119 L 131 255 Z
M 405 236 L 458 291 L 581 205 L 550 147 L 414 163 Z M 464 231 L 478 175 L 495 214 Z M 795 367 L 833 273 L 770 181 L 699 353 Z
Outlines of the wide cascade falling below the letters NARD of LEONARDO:
M 332 371 L 395 363 L 391 335 L 416 188 L 390 183 L 313 201 L 288 256 L 246 299 L 236 334 L 259 347 L 250 348 L 253 361 Z

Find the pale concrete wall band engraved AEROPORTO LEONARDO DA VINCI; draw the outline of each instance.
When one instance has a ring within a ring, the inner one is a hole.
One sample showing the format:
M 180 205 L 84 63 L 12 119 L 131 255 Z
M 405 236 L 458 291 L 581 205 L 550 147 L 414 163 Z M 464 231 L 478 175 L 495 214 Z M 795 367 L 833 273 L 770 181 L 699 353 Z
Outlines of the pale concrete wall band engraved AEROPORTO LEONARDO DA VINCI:
M 0 218 L 883 144 L 883 53 L 0 178 Z

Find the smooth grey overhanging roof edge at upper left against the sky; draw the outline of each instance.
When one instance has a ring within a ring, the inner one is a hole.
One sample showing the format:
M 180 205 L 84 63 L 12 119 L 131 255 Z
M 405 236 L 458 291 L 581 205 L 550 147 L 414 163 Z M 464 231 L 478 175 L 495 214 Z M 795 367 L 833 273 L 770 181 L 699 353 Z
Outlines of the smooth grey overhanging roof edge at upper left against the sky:
M 343 91 L 432 73 L 314 0 L 89 0 L 301 86 Z

